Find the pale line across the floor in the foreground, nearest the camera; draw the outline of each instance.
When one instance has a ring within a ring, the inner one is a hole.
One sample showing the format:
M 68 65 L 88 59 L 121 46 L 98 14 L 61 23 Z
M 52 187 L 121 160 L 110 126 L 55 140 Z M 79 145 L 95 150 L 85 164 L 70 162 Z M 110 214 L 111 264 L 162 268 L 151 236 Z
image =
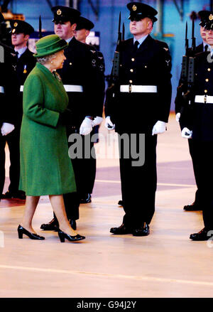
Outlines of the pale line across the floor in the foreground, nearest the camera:
M 189 281 L 186 279 L 165 279 L 160 277 L 153 276 L 133 276 L 133 275 L 122 275 L 122 274 L 107 274 L 107 273 L 99 273 L 99 272 L 86 272 L 86 271 L 70 271 L 70 270 L 61 270 L 61 269 L 43 269 L 43 268 L 35 268 L 35 267 L 16 267 L 0 264 L 0 269 L 14 269 L 20 271 L 37 271 L 37 272 L 45 272 L 45 273 L 59 273 L 59 274 L 82 274 L 85 276 L 101 276 L 101 277 L 111 277 L 113 279 L 138 279 L 142 281 L 158 281 L 162 283 L 178 283 L 178 284 L 194 284 L 194 285 L 204 285 L 204 286 L 213 286 L 213 282 L 211 281 Z

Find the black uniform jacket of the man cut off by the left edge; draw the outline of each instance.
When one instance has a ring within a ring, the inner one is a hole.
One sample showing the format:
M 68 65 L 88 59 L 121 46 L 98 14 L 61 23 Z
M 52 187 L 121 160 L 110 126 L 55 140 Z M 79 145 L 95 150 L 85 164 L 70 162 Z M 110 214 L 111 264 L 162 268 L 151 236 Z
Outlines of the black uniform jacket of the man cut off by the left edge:
M 12 48 L 0 43 L 0 127 L 3 122 L 16 124 L 16 102 L 18 81 L 16 78 L 16 53 Z M 1 132 L 0 132 L 1 135 Z

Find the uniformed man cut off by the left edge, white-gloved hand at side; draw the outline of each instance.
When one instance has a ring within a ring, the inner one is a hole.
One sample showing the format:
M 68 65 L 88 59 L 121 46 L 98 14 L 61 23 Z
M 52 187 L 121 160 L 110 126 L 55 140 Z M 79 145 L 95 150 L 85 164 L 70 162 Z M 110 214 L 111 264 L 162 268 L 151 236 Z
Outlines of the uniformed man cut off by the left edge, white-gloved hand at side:
M 0 13 L 0 23 L 4 22 L 4 16 Z M 11 173 L 15 171 L 15 181 L 11 181 L 9 190 L 18 191 L 19 174 L 14 168 L 16 155 L 13 153 L 13 140 L 17 126 L 16 104 L 18 98 L 18 81 L 16 79 L 16 53 L 12 48 L 0 43 L 0 97 L 1 97 L 1 114 L 0 114 L 0 194 L 2 194 L 5 181 L 5 146 L 6 142 L 10 150 L 10 178 Z M 16 153 L 15 153 L 16 154 Z M 19 162 L 17 163 L 19 166 Z M 15 194 L 17 197 L 19 194 Z

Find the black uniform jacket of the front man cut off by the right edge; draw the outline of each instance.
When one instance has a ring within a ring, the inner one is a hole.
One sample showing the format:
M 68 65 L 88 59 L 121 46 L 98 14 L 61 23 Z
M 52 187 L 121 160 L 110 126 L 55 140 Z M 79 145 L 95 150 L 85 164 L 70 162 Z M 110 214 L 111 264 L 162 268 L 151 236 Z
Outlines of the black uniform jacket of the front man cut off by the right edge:
M 213 99 L 212 85 L 213 59 L 209 52 L 198 53 L 195 57 L 195 85 L 190 107 L 184 111 L 184 126 L 192 130 L 192 138 L 199 141 L 213 141 L 213 103 L 197 103 L 195 97 L 201 95 L 204 99 L 204 95 L 209 95 Z

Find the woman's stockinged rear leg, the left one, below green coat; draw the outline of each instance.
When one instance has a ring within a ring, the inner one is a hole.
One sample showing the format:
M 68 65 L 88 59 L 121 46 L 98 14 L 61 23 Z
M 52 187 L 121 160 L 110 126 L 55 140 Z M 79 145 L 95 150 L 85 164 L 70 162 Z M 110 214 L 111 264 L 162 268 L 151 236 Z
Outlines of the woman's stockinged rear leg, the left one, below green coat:
M 31 233 L 36 233 L 32 227 L 32 220 L 39 198 L 40 196 L 26 196 L 26 205 L 21 225 Z

